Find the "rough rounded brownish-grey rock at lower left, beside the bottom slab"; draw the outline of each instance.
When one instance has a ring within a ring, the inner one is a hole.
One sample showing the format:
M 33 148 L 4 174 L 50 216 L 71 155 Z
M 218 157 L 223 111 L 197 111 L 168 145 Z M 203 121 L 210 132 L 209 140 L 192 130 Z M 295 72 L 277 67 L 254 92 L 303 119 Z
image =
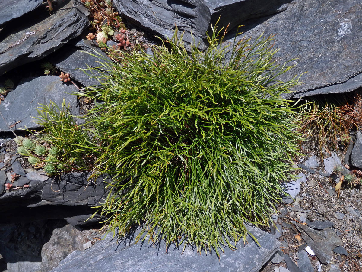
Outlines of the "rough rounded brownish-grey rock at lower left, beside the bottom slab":
M 47 272 L 58 266 L 59 262 L 75 250 L 83 250 L 85 239 L 70 224 L 55 228 L 49 242 L 42 247 L 41 271 Z

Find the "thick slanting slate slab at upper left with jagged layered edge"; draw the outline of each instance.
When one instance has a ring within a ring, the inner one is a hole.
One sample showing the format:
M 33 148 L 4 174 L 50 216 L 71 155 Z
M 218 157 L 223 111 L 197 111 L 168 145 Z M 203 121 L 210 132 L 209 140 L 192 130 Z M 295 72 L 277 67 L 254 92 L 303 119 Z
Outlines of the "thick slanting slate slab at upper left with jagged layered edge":
M 62 0 L 51 16 L 44 11 L 37 16 L 46 16 L 44 20 L 31 18 L 24 21 L 25 27 L 14 27 L 0 42 L 0 74 L 41 59 L 77 37 L 89 25 L 88 15 L 80 1 Z M 35 24 L 29 24 L 32 21 Z

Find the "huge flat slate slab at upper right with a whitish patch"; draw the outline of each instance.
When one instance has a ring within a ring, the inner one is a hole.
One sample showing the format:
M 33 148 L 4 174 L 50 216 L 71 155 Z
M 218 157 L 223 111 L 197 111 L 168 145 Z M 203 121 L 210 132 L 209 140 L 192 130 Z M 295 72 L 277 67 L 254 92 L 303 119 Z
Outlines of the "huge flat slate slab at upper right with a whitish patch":
M 342 93 L 362 86 L 362 2 L 294 0 L 273 16 L 243 22 L 244 36 L 275 36 L 276 63 L 298 58 L 298 65 L 280 79 L 303 74 L 303 85 L 295 86 L 295 98 L 316 94 Z M 229 31 L 232 42 L 235 32 Z M 239 40 L 239 39 L 238 39 Z M 292 64 L 292 63 L 290 63 Z

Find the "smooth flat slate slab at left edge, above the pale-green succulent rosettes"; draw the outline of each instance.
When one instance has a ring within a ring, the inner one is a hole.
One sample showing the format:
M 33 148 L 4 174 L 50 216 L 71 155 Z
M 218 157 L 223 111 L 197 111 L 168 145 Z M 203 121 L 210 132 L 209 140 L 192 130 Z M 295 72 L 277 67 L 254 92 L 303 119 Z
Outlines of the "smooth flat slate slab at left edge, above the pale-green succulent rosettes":
M 71 83 L 59 81 L 55 75 L 45 75 L 38 78 L 25 79 L 16 88 L 9 92 L 5 100 L 0 104 L 0 111 L 8 125 L 16 124 L 13 130 L 27 127 L 28 129 L 38 128 L 32 117 L 38 116 L 39 104 L 49 105 L 50 100 L 62 106 L 63 98 L 70 103 L 72 114 L 78 115 L 77 96 L 71 95 L 77 91 Z M 9 132 L 9 127 L 0 118 L 0 131 Z

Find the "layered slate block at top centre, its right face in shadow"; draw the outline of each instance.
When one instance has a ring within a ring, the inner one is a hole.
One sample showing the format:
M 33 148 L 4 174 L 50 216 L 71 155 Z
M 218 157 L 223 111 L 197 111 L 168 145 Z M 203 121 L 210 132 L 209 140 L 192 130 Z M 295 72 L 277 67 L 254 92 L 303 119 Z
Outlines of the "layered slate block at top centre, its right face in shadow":
M 184 41 L 191 44 L 192 32 L 196 42 L 203 40 L 210 24 L 215 24 L 219 16 L 219 26 L 229 29 L 249 18 L 256 18 L 285 10 L 290 0 L 115 0 L 121 16 L 134 24 L 162 37 L 171 38 L 175 25 L 185 31 Z

